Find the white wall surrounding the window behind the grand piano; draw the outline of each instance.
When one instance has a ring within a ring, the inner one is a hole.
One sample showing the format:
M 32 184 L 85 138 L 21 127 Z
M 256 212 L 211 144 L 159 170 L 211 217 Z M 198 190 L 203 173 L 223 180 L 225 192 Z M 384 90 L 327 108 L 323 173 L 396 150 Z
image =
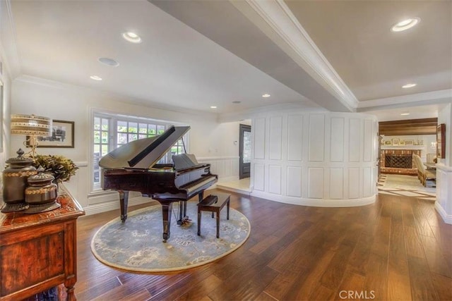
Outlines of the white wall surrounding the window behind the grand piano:
M 131 116 L 155 118 L 186 123 L 189 131 L 189 152 L 199 161 L 212 164 L 212 173 L 222 178 L 238 178 L 239 123 L 218 123 L 215 114 L 183 113 L 130 104 L 128 99 L 83 87 L 59 82 L 23 77 L 13 81 L 11 113 L 47 116 L 52 119 L 75 122 L 74 148 L 39 147 L 39 154 L 61 154 L 79 166 L 75 177 L 65 185 L 78 199 L 88 214 L 119 207 L 117 192 L 91 191 L 91 113 L 105 110 Z M 23 147 L 25 137 L 11 137 L 11 152 Z M 237 166 L 237 167 L 236 167 Z M 133 194 L 129 204 L 149 199 Z

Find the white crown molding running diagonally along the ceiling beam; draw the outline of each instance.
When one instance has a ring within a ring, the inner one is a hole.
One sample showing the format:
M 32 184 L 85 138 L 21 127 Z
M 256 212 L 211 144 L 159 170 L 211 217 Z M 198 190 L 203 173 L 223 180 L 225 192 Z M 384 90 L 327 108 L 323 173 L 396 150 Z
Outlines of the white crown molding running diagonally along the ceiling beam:
M 358 106 L 355 94 L 345 85 L 283 0 L 246 0 L 231 3 L 260 27 L 273 42 L 319 82 L 319 85 L 347 109 L 355 111 Z

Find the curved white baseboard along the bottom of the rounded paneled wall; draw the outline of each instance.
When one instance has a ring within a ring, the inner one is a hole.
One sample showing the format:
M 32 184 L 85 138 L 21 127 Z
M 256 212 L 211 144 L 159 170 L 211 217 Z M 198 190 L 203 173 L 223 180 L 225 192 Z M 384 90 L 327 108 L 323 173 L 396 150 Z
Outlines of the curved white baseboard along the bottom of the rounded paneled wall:
M 376 195 L 370 197 L 362 197 L 359 199 L 303 199 L 301 197 L 285 197 L 283 195 L 273 195 L 268 192 L 254 190 L 251 192 L 253 197 L 261 197 L 270 201 L 285 204 L 311 206 L 311 207 L 358 207 L 373 204 Z

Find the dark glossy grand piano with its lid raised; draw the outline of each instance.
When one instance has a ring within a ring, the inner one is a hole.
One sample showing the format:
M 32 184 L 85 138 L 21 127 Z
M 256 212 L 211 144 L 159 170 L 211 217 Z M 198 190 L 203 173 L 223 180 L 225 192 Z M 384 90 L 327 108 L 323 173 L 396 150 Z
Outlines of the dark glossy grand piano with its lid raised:
M 162 135 L 135 140 L 109 152 L 99 161 L 101 186 L 104 190 L 117 190 L 121 205 L 121 220 L 127 219 L 129 191 L 138 191 L 152 197 L 162 205 L 163 242 L 169 239 L 172 203 L 179 202 L 178 224 L 184 223 L 186 201 L 198 196 L 217 182 L 210 173 L 210 164 L 198 164 L 192 154 L 173 155 L 173 164 L 157 164 L 169 149 L 190 129 L 172 126 Z

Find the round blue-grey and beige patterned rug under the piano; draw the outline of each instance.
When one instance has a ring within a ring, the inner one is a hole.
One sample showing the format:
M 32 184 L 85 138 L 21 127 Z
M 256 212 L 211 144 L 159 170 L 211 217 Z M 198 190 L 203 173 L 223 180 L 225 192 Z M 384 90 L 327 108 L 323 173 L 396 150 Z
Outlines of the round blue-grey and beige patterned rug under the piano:
M 177 206 L 174 206 L 177 207 Z M 94 256 L 117 269 L 136 272 L 163 272 L 191 269 L 213 262 L 244 244 L 251 226 L 246 216 L 226 207 L 220 212 L 220 238 L 216 238 L 216 216 L 203 211 L 198 236 L 196 202 L 188 202 L 192 221 L 177 225 L 172 214 L 171 234 L 162 242 L 162 207 L 155 205 L 132 211 L 125 223 L 118 217 L 102 226 L 91 241 Z

